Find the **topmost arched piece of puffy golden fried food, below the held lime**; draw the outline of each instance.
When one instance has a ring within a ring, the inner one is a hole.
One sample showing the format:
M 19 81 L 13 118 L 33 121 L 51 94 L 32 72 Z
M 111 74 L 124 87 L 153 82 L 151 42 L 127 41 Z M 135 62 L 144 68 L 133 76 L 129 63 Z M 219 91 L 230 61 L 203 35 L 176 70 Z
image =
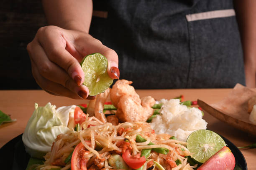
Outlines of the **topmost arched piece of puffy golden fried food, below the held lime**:
M 130 85 L 131 83 L 133 82 L 128 80 L 118 80 L 115 82 L 110 93 L 111 102 L 115 107 L 118 107 L 120 97 L 123 95 L 129 95 L 133 97 L 134 100 L 141 102 L 140 97 L 135 92 L 134 87 Z

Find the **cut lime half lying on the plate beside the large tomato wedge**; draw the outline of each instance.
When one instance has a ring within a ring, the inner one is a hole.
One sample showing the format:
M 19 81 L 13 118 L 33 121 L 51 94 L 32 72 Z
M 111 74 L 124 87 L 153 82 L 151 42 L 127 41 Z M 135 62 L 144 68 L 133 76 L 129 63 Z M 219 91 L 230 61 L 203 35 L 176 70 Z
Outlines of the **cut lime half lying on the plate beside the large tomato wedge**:
M 224 146 L 225 141 L 211 130 L 197 130 L 187 138 L 187 149 L 198 163 L 204 163 Z

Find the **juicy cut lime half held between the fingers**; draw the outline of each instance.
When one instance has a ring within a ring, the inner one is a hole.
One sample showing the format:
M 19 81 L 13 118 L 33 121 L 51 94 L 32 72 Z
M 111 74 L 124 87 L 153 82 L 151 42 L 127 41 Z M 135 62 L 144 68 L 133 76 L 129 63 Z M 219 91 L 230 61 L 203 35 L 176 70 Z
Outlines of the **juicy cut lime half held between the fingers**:
M 83 84 L 88 87 L 90 95 L 104 92 L 113 83 L 113 79 L 108 76 L 108 60 L 104 55 L 100 53 L 87 55 L 81 66 L 84 70 Z

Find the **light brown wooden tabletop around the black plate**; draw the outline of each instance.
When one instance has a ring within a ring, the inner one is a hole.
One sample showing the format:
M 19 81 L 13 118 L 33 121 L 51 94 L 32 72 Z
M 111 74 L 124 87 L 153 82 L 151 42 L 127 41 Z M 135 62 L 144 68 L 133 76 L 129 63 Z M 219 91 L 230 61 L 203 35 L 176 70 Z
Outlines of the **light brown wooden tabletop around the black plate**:
M 156 100 L 166 98 L 171 99 L 179 95 L 184 95 L 185 100 L 203 100 L 207 103 L 214 103 L 222 99 L 230 92 L 231 89 L 178 89 L 178 90 L 137 90 L 138 94 L 143 97 L 151 95 Z M 24 132 L 28 119 L 34 111 L 34 104 L 39 106 L 51 102 L 57 107 L 88 102 L 87 100 L 73 100 L 67 97 L 49 95 L 43 90 L 0 90 L 0 110 L 16 122 L 0 125 L 0 147 L 5 145 L 9 140 L 15 138 Z M 256 137 L 237 130 L 207 112 L 203 117 L 208 122 L 207 128 L 213 130 L 230 140 L 236 146 L 245 146 L 256 143 Z M 241 150 L 246 158 L 248 170 L 256 170 L 256 149 Z

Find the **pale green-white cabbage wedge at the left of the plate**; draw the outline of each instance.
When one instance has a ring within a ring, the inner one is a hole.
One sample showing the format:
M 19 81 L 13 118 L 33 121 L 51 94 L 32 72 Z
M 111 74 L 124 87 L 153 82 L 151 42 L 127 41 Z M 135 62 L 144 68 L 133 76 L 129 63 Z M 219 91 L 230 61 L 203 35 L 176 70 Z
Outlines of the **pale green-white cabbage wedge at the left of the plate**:
M 27 153 L 34 158 L 43 158 L 51 151 L 57 135 L 68 133 L 71 129 L 67 127 L 69 123 L 69 113 L 73 112 L 76 106 L 59 107 L 48 102 L 44 107 L 38 107 L 35 103 L 35 111 L 28 120 L 28 124 L 23 133 L 22 140 Z

